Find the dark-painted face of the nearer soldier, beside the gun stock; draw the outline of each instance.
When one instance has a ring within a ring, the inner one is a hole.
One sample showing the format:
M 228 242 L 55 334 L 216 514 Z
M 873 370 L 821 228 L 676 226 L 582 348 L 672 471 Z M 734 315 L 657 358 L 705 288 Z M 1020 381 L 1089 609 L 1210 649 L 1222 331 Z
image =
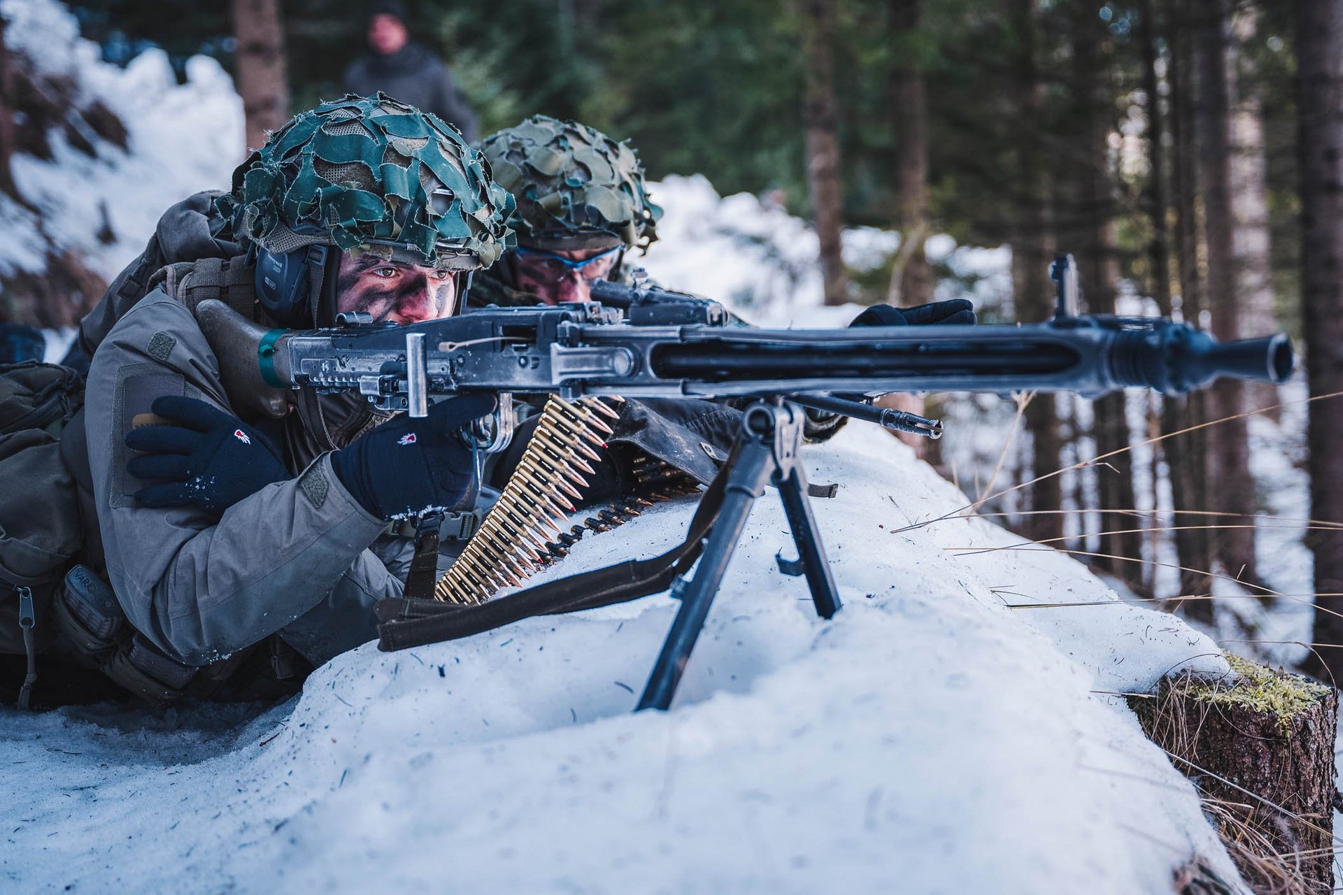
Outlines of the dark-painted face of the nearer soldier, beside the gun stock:
M 424 264 L 344 254 L 336 279 L 336 311 L 365 311 L 375 323 L 419 323 L 451 317 L 458 274 Z

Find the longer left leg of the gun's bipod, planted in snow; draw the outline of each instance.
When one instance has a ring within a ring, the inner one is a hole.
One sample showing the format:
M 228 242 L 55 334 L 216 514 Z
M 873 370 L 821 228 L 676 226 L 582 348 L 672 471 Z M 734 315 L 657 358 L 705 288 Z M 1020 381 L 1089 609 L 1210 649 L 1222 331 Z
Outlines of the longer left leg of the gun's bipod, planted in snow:
M 772 427 L 768 432 L 744 428 L 739 439 L 741 447 L 728 471 L 723 507 L 709 530 L 694 577 L 678 582 L 680 586 L 673 585 L 672 593 L 680 597 L 681 608 L 676 613 L 635 711 L 666 710 L 672 704 L 685 663 L 689 662 L 694 641 L 704 628 L 704 620 L 709 616 L 713 596 L 719 592 L 723 576 L 728 570 L 728 561 L 737 547 L 751 507 L 756 498 L 764 494 L 766 483 L 779 468 L 775 462 Z

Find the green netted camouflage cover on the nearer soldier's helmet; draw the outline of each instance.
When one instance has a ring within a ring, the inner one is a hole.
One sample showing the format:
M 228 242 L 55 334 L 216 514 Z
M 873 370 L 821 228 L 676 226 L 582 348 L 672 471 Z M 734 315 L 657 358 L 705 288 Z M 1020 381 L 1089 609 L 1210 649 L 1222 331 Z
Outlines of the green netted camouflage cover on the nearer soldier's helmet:
M 291 118 L 218 201 L 234 233 L 271 252 L 314 243 L 455 270 L 513 246 L 513 197 L 436 115 L 384 94 Z

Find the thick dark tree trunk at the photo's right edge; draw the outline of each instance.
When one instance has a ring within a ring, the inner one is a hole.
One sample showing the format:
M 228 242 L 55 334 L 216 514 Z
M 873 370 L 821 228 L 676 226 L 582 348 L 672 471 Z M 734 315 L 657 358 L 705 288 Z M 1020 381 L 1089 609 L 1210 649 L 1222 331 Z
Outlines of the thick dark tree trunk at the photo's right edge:
M 1343 0 L 1296 4 L 1297 165 L 1301 199 L 1301 311 L 1311 394 L 1343 392 Z M 1343 403 L 1315 401 L 1307 425 L 1311 518 L 1343 522 Z M 1343 593 L 1343 539 L 1309 533 L 1316 593 Z M 1316 605 L 1343 612 L 1343 597 Z M 1343 644 L 1343 619 L 1315 613 L 1317 644 Z M 1343 682 L 1343 648 L 1320 645 L 1327 680 Z

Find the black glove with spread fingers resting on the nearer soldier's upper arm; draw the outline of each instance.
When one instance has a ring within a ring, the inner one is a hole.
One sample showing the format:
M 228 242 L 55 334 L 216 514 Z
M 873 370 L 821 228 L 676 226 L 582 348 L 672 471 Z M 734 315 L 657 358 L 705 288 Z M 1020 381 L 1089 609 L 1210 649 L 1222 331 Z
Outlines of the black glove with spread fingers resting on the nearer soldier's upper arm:
M 126 470 L 156 482 L 136 491 L 144 506 L 197 506 L 223 514 L 271 482 L 291 478 L 270 439 L 231 413 L 173 394 L 154 399 L 153 412 L 175 425 L 126 432 L 126 447 L 141 451 Z

